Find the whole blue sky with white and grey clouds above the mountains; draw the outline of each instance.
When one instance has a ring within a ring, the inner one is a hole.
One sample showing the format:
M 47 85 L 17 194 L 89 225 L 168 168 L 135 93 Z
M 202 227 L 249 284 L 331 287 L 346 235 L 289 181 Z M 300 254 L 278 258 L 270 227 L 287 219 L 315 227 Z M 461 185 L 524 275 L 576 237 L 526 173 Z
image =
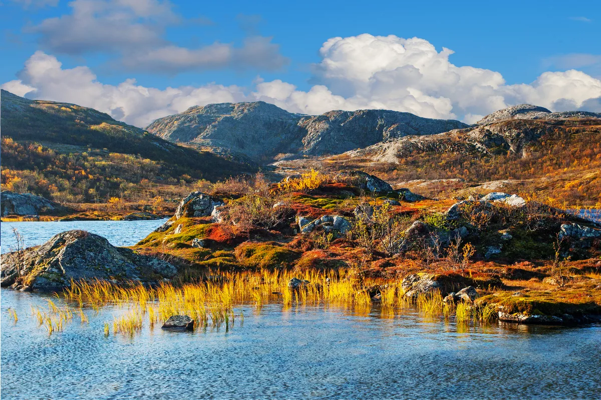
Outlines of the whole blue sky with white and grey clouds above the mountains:
M 2 89 L 138 127 L 236 101 L 601 112 L 599 1 L 0 1 Z

